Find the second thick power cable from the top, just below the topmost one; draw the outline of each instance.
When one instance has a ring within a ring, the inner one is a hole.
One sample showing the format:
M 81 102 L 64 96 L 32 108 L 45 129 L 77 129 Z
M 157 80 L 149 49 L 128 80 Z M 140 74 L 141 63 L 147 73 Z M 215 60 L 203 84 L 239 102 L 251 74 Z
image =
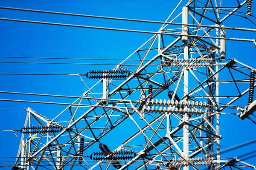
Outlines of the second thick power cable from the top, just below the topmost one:
M 248 42 L 254 42 L 255 43 L 255 40 L 241 39 L 241 38 L 205 37 L 205 36 L 192 35 L 192 34 L 183 35 L 183 34 L 173 34 L 173 33 L 154 32 L 154 31 L 140 31 L 140 30 L 121 29 L 121 28 L 82 26 L 82 25 L 74 25 L 74 24 L 49 23 L 49 22 L 32 21 L 32 20 L 17 20 L 17 19 L 10 19 L 10 18 L 0 18 L 0 20 L 16 21 L 16 22 L 22 22 L 22 23 L 38 23 L 38 24 L 47 24 L 47 25 L 54 25 L 54 26 L 69 26 L 69 27 L 78 27 L 78 28 L 93 28 L 93 29 L 112 30 L 112 31 L 137 32 L 137 33 L 146 33 L 146 34 L 163 34 L 163 35 L 172 35 L 172 36 L 212 38 L 212 39 L 220 39 L 220 40 L 248 41 Z

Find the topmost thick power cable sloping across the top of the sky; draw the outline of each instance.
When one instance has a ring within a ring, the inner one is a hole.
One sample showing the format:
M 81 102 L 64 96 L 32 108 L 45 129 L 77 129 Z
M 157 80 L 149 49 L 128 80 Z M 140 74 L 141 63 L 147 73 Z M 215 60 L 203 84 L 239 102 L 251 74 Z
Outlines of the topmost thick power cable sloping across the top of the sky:
M 200 27 L 208 27 L 208 28 L 222 28 L 222 27 L 219 27 L 219 26 L 205 26 L 205 25 L 196 25 L 196 24 L 168 23 L 168 22 L 152 21 L 152 20 L 137 20 L 137 19 L 130 19 L 130 18 L 104 17 L 104 16 L 96 16 L 96 15 L 73 14 L 73 13 L 54 12 L 54 11 L 42 11 L 42 10 L 33 10 L 33 9 L 24 9 L 24 8 L 11 8 L 11 7 L 4 7 L 4 6 L 0 6 L 0 8 L 9 9 L 9 10 L 16 10 L 16 11 L 28 11 L 28 12 L 47 13 L 47 14 L 60 14 L 60 15 L 77 16 L 77 17 L 91 17 L 91 18 L 110 19 L 110 20 L 124 20 L 124 21 L 134 21 L 134 22 L 142 22 L 142 23 L 158 23 L 158 24 L 169 24 L 169 25 L 179 25 L 179 26 L 200 26 Z M 256 31 L 256 29 L 249 29 L 249 28 L 225 27 L 225 29 L 233 29 L 233 30 L 239 30 L 239 31 Z

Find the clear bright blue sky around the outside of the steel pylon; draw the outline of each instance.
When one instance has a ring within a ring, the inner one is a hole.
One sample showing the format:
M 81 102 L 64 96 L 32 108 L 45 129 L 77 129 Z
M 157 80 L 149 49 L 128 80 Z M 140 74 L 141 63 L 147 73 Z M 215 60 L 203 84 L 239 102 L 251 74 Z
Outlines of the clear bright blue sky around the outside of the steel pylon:
M 185 0 L 184 0 L 185 1 Z M 241 1 L 241 0 L 240 0 Z M 177 0 L 0 0 L 0 6 L 28 8 L 45 11 L 58 11 L 76 14 L 89 14 L 108 17 L 122 17 L 141 20 L 165 21 Z M 246 6 L 239 11 L 246 12 Z M 239 14 L 239 13 L 238 13 Z M 256 15 L 256 4 L 253 4 L 252 14 Z M 244 14 L 239 14 L 244 16 Z M 111 28 L 138 29 L 144 31 L 158 31 L 160 24 L 137 23 L 53 14 L 40 14 L 25 11 L 0 9 L 0 17 L 20 20 L 36 20 L 54 23 L 69 23 L 86 26 L 102 26 Z M 254 23 L 256 19 L 250 18 Z M 250 21 L 232 16 L 225 23 L 227 27 L 256 28 Z M 228 37 L 256 39 L 255 32 L 227 31 Z M 64 26 L 49 26 L 34 23 L 18 23 L 0 20 L 0 56 L 7 57 L 70 57 L 96 59 L 125 59 L 146 40 L 151 34 L 73 28 Z M 256 49 L 252 42 L 227 41 L 227 58 L 236 58 L 246 65 L 256 68 Z M 57 60 L 57 59 L 17 59 L 0 58 L 0 61 L 15 62 L 80 62 L 107 63 L 109 65 L 53 65 L 53 64 L 20 64 L 0 63 L 0 91 L 14 91 L 38 94 L 58 94 L 81 96 L 87 90 L 84 83 L 77 76 L 24 76 L 1 75 L 1 73 L 35 73 L 35 74 L 85 74 L 90 70 L 112 70 L 119 61 L 102 60 Z M 96 81 L 83 77 L 88 87 Z M 221 87 L 220 87 L 221 88 Z M 227 87 L 226 87 L 227 88 Z M 113 90 L 113 89 L 112 89 Z M 228 89 L 222 89 L 222 91 Z M 232 91 L 230 91 L 232 95 Z M 247 105 L 247 95 L 240 105 Z M 40 96 L 24 96 L 1 94 L 1 99 L 22 99 L 49 102 L 73 102 L 73 99 L 48 98 Z M 0 130 L 16 130 L 24 125 L 26 111 L 5 110 L 2 108 L 23 109 L 30 107 L 42 115 L 56 115 L 66 106 L 45 105 L 23 102 L 0 101 Z M 236 113 L 235 109 L 227 110 Z M 253 117 L 252 117 L 253 118 Z M 254 117 L 255 118 L 255 117 Z M 256 119 L 254 119 L 256 121 Z M 122 126 L 125 128 L 125 126 Z M 135 127 L 134 127 L 135 128 Z M 136 129 L 137 130 L 137 129 Z M 256 139 L 256 125 L 248 119 L 240 120 L 236 115 L 221 116 L 220 132 L 221 149 Z M 123 129 L 119 130 L 122 134 Z M 20 134 L 17 133 L 20 137 Z M 112 134 L 114 137 L 116 134 Z M 16 157 L 19 141 L 12 132 L 0 132 L 0 157 Z M 111 136 L 110 138 L 113 138 Z M 127 136 L 126 136 L 127 137 Z M 121 140 L 121 139 L 120 139 Z M 117 144 L 119 146 L 119 144 Z M 111 145 L 114 149 L 117 145 Z M 241 156 L 256 148 L 256 143 L 221 155 L 223 158 Z M 90 154 L 90 153 L 87 153 Z M 239 157 L 238 157 L 239 158 Z M 0 159 L 0 165 L 6 165 Z M 256 158 L 247 159 L 248 163 L 256 165 Z M 10 169 L 10 168 L 2 168 Z

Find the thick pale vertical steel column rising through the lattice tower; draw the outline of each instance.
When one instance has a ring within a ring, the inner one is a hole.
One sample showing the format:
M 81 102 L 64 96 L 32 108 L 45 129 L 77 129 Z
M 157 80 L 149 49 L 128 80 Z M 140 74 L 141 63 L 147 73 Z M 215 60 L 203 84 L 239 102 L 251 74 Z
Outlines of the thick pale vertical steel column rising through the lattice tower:
M 182 23 L 183 24 L 188 24 L 188 7 L 183 7 L 182 8 Z M 182 34 L 183 35 L 188 35 L 189 28 L 188 26 L 182 26 Z M 182 36 L 181 40 L 183 41 L 184 44 L 184 59 L 188 59 L 188 54 L 189 54 L 189 47 L 188 47 L 188 37 L 187 36 Z M 188 71 L 186 68 L 184 69 L 184 96 L 188 94 Z M 184 99 L 186 100 L 186 98 Z M 183 115 L 183 122 L 188 122 L 189 116 L 188 113 L 185 113 Z M 183 126 L 183 156 L 185 159 L 188 159 L 189 157 L 189 126 L 184 125 Z M 189 170 L 188 166 L 184 166 L 183 170 Z

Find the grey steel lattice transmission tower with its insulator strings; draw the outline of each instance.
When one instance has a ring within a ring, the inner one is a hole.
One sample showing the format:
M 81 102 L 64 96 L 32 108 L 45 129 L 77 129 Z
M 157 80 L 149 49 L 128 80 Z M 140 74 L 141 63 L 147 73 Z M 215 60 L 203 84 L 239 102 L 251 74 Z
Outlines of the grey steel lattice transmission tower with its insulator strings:
M 79 164 L 86 169 L 120 170 L 255 169 L 239 159 L 220 159 L 219 115 L 248 94 L 254 71 L 225 55 L 225 20 L 247 2 L 233 0 L 229 6 L 221 2 L 191 0 L 185 4 L 181 0 L 166 23 L 183 26 L 163 24 L 113 71 L 89 71 L 89 75 L 102 77 L 90 77 L 91 81 L 100 79 L 61 113 L 46 117 L 26 108 L 15 167 L 63 170 Z M 221 13 L 224 8 L 230 12 Z M 116 74 L 120 76 L 114 77 Z M 219 96 L 220 84 L 236 91 Z M 137 130 L 127 128 L 134 126 Z M 110 139 L 111 133 L 122 137 Z M 109 145 L 114 149 L 109 150 Z

